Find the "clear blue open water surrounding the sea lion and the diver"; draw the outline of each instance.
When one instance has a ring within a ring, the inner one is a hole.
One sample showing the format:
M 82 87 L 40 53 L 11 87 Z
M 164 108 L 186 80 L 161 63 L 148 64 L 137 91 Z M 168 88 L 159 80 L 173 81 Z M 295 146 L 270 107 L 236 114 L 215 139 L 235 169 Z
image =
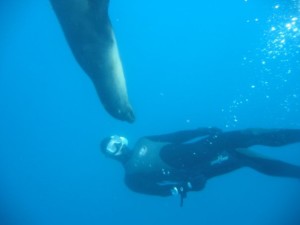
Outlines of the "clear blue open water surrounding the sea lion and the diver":
M 1 2 L 0 224 L 300 224 L 297 180 L 245 168 L 180 208 L 99 151 L 115 133 L 300 128 L 297 1 L 111 0 L 133 125 L 104 111 L 48 1 Z M 300 144 L 253 149 L 300 165 Z

